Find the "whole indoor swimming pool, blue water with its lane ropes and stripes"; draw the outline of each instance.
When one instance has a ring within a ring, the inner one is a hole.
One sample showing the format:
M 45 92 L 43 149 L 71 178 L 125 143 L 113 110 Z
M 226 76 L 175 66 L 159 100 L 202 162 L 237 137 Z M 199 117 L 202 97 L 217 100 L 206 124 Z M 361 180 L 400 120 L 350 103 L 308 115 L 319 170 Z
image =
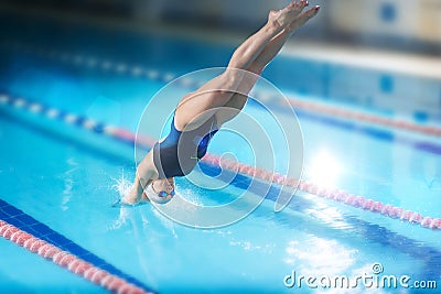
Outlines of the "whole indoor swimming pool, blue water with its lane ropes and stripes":
M 8 15 L 0 23 L 13 28 L 0 33 L 1 293 L 441 287 L 441 78 L 277 57 L 263 76 L 290 99 L 301 128 L 299 189 L 275 213 L 289 187 L 257 185 L 250 193 L 262 202 L 247 217 L 194 228 L 150 204 L 114 204 L 135 176 L 144 107 L 175 78 L 224 66 L 235 44 Z M 255 95 L 288 116 L 277 97 Z M 265 117 L 254 100 L 244 111 Z M 213 139 L 213 157 L 230 152 L 252 165 L 246 142 L 228 135 Z M 213 157 L 201 163 L 207 175 L 219 173 Z M 192 203 L 223 205 L 249 188 L 250 177 L 244 168 L 218 189 L 182 177 L 176 190 Z M 397 285 L 369 286 L 366 276 L 396 276 Z M 343 284 L 321 284 L 335 280 Z

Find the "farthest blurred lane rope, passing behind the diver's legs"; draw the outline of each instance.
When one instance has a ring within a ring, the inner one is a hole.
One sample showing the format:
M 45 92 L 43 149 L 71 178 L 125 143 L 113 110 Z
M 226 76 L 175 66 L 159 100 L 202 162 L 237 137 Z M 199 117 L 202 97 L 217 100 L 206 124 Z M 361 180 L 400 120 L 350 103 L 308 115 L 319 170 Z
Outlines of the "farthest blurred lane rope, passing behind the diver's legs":
M 24 43 L 19 42 L 3 42 L 6 46 L 14 50 L 20 50 L 29 54 L 35 54 L 40 57 L 55 59 L 62 63 L 71 64 L 74 66 L 83 66 L 87 68 L 101 69 L 105 72 L 111 72 L 119 75 L 129 75 L 138 78 L 147 78 L 149 80 L 160 80 L 163 83 L 169 83 L 176 78 L 178 76 L 172 73 L 162 73 L 158 69 L 146 68 L 139 65 L 129 65 L 123 62 L 112 62 L 109 59 L 103 59 L 93 56 L 85 56 L 80 54 L 72 54 L 68 52 L 61 52 L 55 50 L 46 50 L 43 47 L 31 47 Z M 190 88 L 192 86 L 200 86 L 200 81 L 193 80 L 189 77 L 181 79 L 183 87 Z M 257 96 L 256 96 L 257 97 Z M 281 100 L 276 96 L 267 96 L 261 98 L 267 100 L 272 100 L 275 102 L 286 105 L 284 100 Z M 441 128 L 437 126 L 422 126 L 408 120 L 386 118 L 373 113 L 365 113 L 362 111 L 351 110 L 351 109 L 340 109 L 337 107 L 326 106 L 320 102 L 312 102 L 300 100 L 293 97 L 289 97 L 290 106 L 297 107 L 304 111 L 320 113 L 329 116 L 332 118 L 340 118 L 344 120 L 354 120 L 368 122 L 373 124 L 384 126 L 388 128 L 401 129 L 418 133 L 424 133 L 433 137 L 441 137 Z

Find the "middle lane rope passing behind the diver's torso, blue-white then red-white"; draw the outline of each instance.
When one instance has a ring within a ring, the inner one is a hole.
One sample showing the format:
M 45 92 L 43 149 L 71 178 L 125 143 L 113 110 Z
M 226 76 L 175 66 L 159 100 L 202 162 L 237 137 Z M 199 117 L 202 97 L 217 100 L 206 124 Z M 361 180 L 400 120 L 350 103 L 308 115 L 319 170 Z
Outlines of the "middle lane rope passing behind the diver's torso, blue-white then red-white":
M 95 122 L 88 118 L 76 116 L 73 113 L 67 113 L 65 111 L 61 111 L 54 108 L 49 108 L 37 102 L 30 102 L 24 100 L 23 98 L 13 98 L 7 94 L 0 94 L 0 105 L 10 106 L 18 109 L 23 109 L 25 111 L 32 113 L 42 115 L 49 119 L 64 121 L 68 124 L 76 126 L 79 128 L 87 129 L 98 134 L 106 134 L 114 139 L 137 144 L 139 146 L 150 149 L 155 140 L 146 137 L 136 137 L 129 130 L 125 130 L 121 128 L 116 128 L 111 126 L 106 126 L 100 122 Z M 56 113 L 56 115 L 54 115 Z M 261 181 L 275 183 L 278 185 L 283 185 L 292 188 L 298 188 L 302 192 L 326 198 L 330 200 L 334 200 L 337 203 L 346 204 L 352 207 L 362 208 L 366 211 L 372 211 L 376 214 L 381 214 L 385 217 L 389 217 L 392 219 L 399 219 L 402 221 L 407 221 L 410 224 L 420 225 L 422 228 L 429 228 L 433 230 L 441 230 L 441 218 L 433 218 L 428 216 L 422 216 L 419 213 L 405 210 L 401 207 L 392 206 L 390 204 L 384 204 L 380 202 L 376 202 L 370 198 L 366 198 L 365 196 L 349 194 L 343 189 L 338 188 L 323 188 L 321 185 L 304 181 L 298 179 L 293 177 L 289 177 L 287 175 L 282 175 L 279 173 L 273 173 L 270 171 L 266 171 L 262 168 L 254 167 L 244 163 L 238 163 L 234 161 L 229 161 L 227 159 L 222 159 L 220 156 L 207 153 L 202 161 L 204 163 L 219 166 L 220 168 L 227 168 L 233 172 L 239 172 L 244 175 L 248 175 L 251 177 L 257 177 Z

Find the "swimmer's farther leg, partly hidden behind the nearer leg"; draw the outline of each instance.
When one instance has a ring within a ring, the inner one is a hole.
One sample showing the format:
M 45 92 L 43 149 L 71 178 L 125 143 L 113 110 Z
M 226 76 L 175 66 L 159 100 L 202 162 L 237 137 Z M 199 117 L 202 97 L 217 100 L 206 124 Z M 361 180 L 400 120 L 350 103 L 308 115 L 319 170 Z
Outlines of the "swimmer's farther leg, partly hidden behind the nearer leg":
M 308 6 L 308 2 L 304 6 Z M 299 9 L 303 9 L 304 6 L 299 7 Z M 240 112 L 247 101 L 249 91 L 252 89 L 258 76 L 260 76 L 265 67 L 276 57 L 294 31 L 318 14 L 319 9 L 319 7 L 314 7 L 303 13 L 300 13 L 289 25 L 287 25 L 284 30 L 272 37 L 271 41 L 265 46 L 263 51 L 247 68 L 248 72 L 256 74 L 256 76 L 249 75 L 250 77 L 239 85 L 237 92 L 233 95 L 227 104 L 224 105 L 223 109 L 216 112 L 216 119 L 219 127 L 220 124 L 232 120 Z

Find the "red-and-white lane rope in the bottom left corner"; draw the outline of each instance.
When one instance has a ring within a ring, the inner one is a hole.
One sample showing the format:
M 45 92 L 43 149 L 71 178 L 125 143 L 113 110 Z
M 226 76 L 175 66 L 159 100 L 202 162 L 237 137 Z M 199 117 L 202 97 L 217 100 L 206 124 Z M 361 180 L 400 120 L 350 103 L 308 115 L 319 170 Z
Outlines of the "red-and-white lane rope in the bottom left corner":
M 114 293 L 149 293 L 3 220 L 0 220 L 0 236 Z

